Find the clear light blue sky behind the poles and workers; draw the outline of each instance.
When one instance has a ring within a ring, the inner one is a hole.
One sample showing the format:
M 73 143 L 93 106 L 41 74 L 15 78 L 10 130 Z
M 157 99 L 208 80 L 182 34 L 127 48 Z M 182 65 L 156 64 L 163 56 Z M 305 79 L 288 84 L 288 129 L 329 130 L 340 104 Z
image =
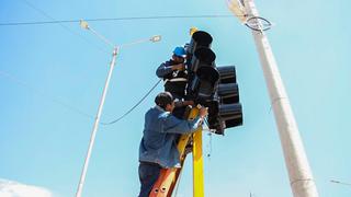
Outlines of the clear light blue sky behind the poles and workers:
M 230 14 L 225 1 L 38 1 L 55 20 Z M 267 32 L 305 144 L 320 196 L 346 197 L 351 187 L 351 27 L 347 0 L 256 1 L 274 23 Z M 3 0 L 0 23 L 50 21 L 25 0 Z M 111 48 L 78 23 L 0 26 L 0 178 L 72 196 L 111 60 Z M 292 196 L 273 112 L 250 31 L 236 18 L 90 22 L 115 44 L 156 34 L 160 43 L 124 48 L 117 58 L 102 115 L 110 121 L 157 82 L 155 70 L 196 26 L 214 37 L 217 65 L 236 65 L 244 126 L 226 136 L 204 135 L 206 196 Z M 144 113 L 159 85 L 123 120 L 101 126 L 83 196 L 136 196 Z M 190 159 L 190 158 L 189 158 Z M 191 196 L 191 160 L 178 196 Z

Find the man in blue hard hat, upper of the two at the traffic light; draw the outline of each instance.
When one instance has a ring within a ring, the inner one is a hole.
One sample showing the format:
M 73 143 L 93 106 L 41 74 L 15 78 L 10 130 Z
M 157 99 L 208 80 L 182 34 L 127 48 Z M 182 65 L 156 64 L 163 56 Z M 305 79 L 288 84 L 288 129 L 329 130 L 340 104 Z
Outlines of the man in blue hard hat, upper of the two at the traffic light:
M 186 51 L 184 47 L 176 47 L 172 58 L 162 62 L 156 70 L 156 74 L 163 79 L 165 91 L 170 92 L 176 100 L 173 115 L 183 118 L 185 106 L 193 105 L 193 101 L 184 101 L 188 72 L 185 69 Z

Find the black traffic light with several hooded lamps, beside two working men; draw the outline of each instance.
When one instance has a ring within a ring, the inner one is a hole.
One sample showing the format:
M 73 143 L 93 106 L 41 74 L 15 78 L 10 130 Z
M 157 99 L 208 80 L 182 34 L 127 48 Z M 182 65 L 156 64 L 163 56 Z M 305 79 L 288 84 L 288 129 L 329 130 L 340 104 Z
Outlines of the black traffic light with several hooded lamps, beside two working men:
M 242 125 L 242 108 L 235 67 L 216 67 L 212 40 L 208 33 L 197 31 L 186 46 L 186 99 L 208 107 L 210 129 L 224 135 L 226 128 Z

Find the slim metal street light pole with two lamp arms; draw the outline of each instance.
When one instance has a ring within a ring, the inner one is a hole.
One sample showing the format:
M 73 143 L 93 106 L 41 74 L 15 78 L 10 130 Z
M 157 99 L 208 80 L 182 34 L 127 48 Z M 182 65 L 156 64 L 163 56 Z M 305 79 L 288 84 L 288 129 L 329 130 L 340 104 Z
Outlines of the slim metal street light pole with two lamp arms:
M 109 46 L 113 47 L 113 53 L 112 53 L 112 61 L 110 63 L 110 70 L 109 70 L 109 74 L 105 81 L 105 85 L 103 88 L 103 92 L 102 92 L 102 96 L 101 96 L 101 101 L 100 101 L 100 105 L 99 105 L 99 109 L 98 109 L 98 114 L 95 116 L 95 121 L 92 128 L 92 132 L 91 132 L 91 138 L 90 138 L 90 142 L 89 142 L 89 148 L 88 148 L 88 152 L 87 152 L 87 157 L 86 157 L 86 161 L 84 161 L 84 165 L 83 165 L 83 170 L 81 172 L 81 176 L 80 176 L 80 181 L 79 181 L 79 185 L 78 185 L 78 189 L 76 193 L 76 197 L 81 197 L 82 195 L 82 190 L 83 190 L 83 185 L 84 185 L 84 181 L 86 181 L 86 176 L 87 176 L 87 171 L 88 171 L 88 165 L 89 165 L 89 161 L 90 161 L 90 157 L 91 157 L 91 152 L 92 152 L 92 148 L 94 144 L 94 140 L 95 140 L 95 136 L 97 136 L 97 131 L 98 131 L 98 127 L 99 127 L 99 123 L 100 123 L 100 117 L 102 114 L 102 108 L 103 108 L 103 104 L 105 102 L 105 97 L 106 97 L 106 93 L 107 93 L 107 89 L 109 89 L 109 84 L 110 84 L 110 80 L 112 77 L 112 72 L 115 66 L 115 61 L 116 61 L 116 57 L 117 54 L 121 49 L 122 46 L 128 46 L 128 45 L 134 45 L 134 44 L 139 44 L 139 43 L 144 43 L 144 42 L 159 42 L 161 39 L 160 35 L 156 35 L 152 36 L 150 38 L 147 39 L 140 39 L 138 42 L 134 42 L 132 44 L 127 44 L 127 45 L 122 45 L 122 46 L 115 46 L 114 44 L 112 44 L 112 42 L 110 42 L 109 39 L 106 39 L 104 36 L 102 36 L 101 34 L 99 34 L 97 31 L 94 31 L 92 27 L 89 26 L 89 24 L 86 21 L 80 21 L 80 26 L 84 30 L 89 30 L 91 31 L 94 35 L 97 35 L 100 39 L 102 39 L 104 43 L 106 43 Z

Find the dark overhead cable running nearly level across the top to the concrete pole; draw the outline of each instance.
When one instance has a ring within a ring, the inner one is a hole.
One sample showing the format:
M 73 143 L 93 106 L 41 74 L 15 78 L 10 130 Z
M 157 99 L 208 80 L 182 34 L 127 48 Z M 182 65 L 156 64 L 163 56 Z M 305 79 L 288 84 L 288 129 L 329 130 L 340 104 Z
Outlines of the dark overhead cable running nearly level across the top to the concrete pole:
M 47 14 L 45 14 L 48 16 Z M 154 16 L 131 16 L 131 18 L 102 18 L 84 19 L 87 22 L 109 22 L 109 21 L 136 21 L 136 20 L 168 20 L 168 19 L 223 19 L 233 18 L 226 14 L 204 14 L 204 15 L 154 15 Z M 53 18 L 50 18 L 53 20 Z M 20 26 L 20 25 L 44 25 L 56 23 L 79 23 L 80 20 L 53 20 L 53 21 L 33 21 L 33 22 L 7 22 L 0 23 L 0 26 Z

